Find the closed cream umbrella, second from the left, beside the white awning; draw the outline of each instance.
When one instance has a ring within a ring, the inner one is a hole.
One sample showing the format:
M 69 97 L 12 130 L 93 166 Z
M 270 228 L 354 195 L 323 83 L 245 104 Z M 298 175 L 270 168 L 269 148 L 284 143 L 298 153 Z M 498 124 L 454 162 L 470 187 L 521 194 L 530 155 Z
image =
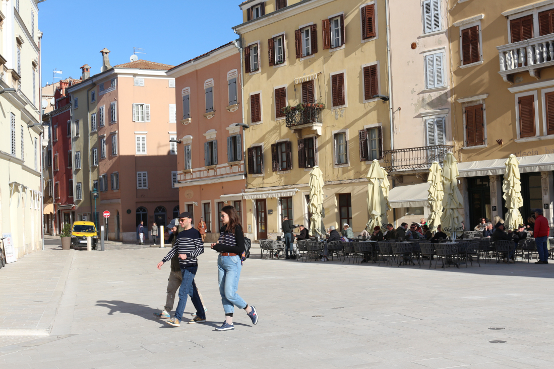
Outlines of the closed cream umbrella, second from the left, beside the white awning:
M 387 171 L 381 168 L 379 160 L 373 160 L 366 178 L 369 181 L 367 185 L 367 209 L 370 213 L 366 230 L 371 233 L 375 226 L 383 229 L 388 224 L 387 210 L 391 210 L 391 204 L 388 202 Z

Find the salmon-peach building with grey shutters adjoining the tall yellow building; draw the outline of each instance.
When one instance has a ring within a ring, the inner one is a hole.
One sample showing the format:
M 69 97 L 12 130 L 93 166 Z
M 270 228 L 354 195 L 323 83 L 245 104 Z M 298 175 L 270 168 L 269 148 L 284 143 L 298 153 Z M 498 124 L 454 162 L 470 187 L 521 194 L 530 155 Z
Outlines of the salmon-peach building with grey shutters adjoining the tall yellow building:
M 245 168 L 240 54 L 235 41 L 167 71 L 175 78 L 179 206 L 200 217 L 210 233 L 223 225 L 219 210 L 233 205 L 244 225 Z M 215 235 L 214 235 L 215 236 Z M 211 237 L 208 235 L 207 240 Z

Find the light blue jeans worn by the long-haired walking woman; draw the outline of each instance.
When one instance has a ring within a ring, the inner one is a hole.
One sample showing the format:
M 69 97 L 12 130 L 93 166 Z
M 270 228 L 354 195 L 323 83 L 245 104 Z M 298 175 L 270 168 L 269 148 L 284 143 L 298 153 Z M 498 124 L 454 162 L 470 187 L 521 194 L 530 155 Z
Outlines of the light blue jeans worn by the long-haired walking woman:
M 238 256 L 217 257 L 217 269 L 219 277 L 219 294 L 225 314 L 233 313 L 234 306 L 244 309 L 247 303 L 239 296 L 240 258 Z

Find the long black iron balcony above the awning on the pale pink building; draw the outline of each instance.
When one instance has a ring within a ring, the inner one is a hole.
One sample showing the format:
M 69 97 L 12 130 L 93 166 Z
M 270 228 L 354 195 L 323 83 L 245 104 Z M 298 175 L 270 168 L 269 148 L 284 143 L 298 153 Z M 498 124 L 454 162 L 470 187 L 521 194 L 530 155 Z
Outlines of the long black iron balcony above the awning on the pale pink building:
M 389 172 L 400 170 L 427 169 L 433 162 L 443 165 L 446 154 L 454 149 L 450 145 L 413 147 L 383 152 L 383 168 Z

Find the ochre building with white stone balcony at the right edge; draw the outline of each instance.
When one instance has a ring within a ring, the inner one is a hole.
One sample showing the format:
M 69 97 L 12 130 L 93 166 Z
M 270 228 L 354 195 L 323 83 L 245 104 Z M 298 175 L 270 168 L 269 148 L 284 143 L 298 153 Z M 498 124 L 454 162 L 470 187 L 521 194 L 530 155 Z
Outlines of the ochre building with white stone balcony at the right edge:
M 506 214 L 501 181 L 520 160 L 524 220 L 552 226 L 554 2 L 449 1 L 452 122 L 466 225 Z

